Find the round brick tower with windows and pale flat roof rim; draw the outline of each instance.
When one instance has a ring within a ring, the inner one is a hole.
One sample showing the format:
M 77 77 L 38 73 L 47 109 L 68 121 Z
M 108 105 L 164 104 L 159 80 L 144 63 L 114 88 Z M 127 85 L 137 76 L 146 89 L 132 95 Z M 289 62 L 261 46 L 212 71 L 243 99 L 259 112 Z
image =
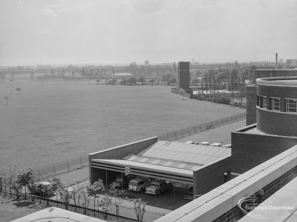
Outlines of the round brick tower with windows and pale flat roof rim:
M 266 134 L 296 136 L 297 77 L 257 79 L 257 129 Z

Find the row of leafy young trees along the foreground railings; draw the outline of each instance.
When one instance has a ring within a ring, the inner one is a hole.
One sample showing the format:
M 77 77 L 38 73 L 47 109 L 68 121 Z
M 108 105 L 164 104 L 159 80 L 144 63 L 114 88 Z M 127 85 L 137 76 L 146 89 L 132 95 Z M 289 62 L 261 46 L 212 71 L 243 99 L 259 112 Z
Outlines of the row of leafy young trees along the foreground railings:
M 19 199 L 20 196 L 23 196 L 25 200 L 27 199 L 27 195 L 30 194 L 29 196 L 31 201 L 35 201 L 39 196 L 40 204 L 42 197 L 45 195 L 48 197 L 56 195 L 57 207 L 59 207 L 58 203 L 61 201 L 64 204 L 65 209 L 68 210 L 70 200 L 73 200 L 75 212 L 77 211 L 77 201 L 80 199 L 80 201 L 83 201 L 80 205 L 83 206 L 84 214 L 86 214 L 90 203 L 93 202 L 94 217 L 96 198 L 100 197 L 102 192 L 105 191 L 105 187 L 101 179 L 95 181 L 91 185 L 76 185 L 69 190 L 64 187 L 59 178 L 53 177 L 53 179 L 50 180 L 45 172 L 36 171 L 31 168 L 20 171 L 17 170 L 17 165 L 8 166 L 6 169 L 2 169 L 0 171 L 0 175 L 0 193 L 3 189 L 4 191 L 9 189 L 10 197 L 12 197 L 12 194 L 14 193 L 17 199 Z M 41 188 L 36 186 L 37 184 L 44 183 L 44 181 L 50 181 L 50 185 L 43 186 Z M 140 198 L 129 198 L 124 190 L 119 190 L 114 185 L 110 185 L 110 189 L 108 191 L 109 193 L 104 194 L 100 201 L 100 208 L 105 212 L 105 218 L 107 218 L 108 207 L 111 204 L 116 207 L 116 217 L 119 218 L 120 205 L 124 202 L 132 202 L 137 220 L 143 220 L 144 213 L 146 212 L 146 202 L 142 201 Z M 39 194 L 38 196 L 37 193 Z M 6 196 L 6 192 L 4 192 L 4 196 Z

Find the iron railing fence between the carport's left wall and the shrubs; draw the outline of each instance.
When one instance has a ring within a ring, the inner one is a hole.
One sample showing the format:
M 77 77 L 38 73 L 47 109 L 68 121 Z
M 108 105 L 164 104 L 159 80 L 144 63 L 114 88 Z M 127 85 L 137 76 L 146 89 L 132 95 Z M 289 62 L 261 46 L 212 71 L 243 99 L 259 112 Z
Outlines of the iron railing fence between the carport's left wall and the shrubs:
M 86 156 L 80 156 L 76 157 L 67 161 L 62 161 L 55 164 L 50 164 L 47 166 L 42 166 L 34 169 L 34 172 L 39 172 L 40 175 L 48 175 L 48 176 L 54 176 L 61 173 L 70 172 L 75 169 L 79 169 L 84 166 L 89 165 L 89 157 Z

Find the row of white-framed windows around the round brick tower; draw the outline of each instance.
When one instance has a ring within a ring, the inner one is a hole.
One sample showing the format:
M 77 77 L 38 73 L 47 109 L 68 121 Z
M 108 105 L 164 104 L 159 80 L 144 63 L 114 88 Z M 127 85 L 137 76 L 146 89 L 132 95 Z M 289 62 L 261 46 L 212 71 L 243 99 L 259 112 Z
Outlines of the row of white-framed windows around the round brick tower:
M 286 112 L 297 112 L 297 99 L 285 99 Z M 280 111 L 280 98 L 270 97 L 271 110 Z M 257 96 L 259 106 L 259 96 Z M 267 97 L 260 96 L 260 108 L 267 109 Z

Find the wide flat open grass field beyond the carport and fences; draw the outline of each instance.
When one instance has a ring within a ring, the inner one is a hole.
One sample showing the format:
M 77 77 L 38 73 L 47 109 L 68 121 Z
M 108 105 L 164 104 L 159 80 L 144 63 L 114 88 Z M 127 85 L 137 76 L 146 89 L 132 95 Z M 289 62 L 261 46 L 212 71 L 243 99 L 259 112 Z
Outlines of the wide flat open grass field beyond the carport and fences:
M 245 112 L 182 100 L 168 86 L 9 78 L 0 83 L 0 169 L 53 164 Z

